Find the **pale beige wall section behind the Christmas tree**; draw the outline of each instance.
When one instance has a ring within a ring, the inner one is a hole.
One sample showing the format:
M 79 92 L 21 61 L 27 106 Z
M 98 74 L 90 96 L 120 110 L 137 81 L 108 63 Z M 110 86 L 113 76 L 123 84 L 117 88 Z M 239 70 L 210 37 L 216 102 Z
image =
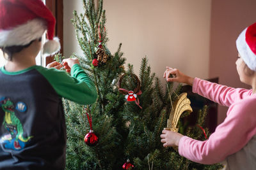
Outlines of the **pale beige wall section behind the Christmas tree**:
M 139 73 L 147 55 L 160 78 L 166 66 L 191 76 L 208 78 L 211 0 L 105 0 L 108 48 L 122 43 L 127 63 Z M 72 11 L 83 11 L 80 0 L 64 0 L 64 55 L 83 55 L 70 22 Z M 162 79 L 164 82 L 164 79 Z

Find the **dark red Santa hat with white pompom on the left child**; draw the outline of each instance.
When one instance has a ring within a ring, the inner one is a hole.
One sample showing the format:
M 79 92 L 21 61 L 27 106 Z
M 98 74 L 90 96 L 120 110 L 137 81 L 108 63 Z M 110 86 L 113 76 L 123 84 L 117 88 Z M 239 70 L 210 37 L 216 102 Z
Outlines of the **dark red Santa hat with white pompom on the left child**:
M 56 20 L 42 0 L 0 0 L 0 46 L 28 45 L 47 30 L 44 55 L 60 50 L 54 38 Z

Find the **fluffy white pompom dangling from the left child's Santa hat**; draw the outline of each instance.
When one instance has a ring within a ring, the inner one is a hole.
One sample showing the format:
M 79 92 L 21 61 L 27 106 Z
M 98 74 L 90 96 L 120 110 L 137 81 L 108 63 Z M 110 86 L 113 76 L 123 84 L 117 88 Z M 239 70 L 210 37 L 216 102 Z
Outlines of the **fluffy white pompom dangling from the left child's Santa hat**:
M 44 44 L 43 54 L 44 55 L 53 55 L 56 52 L 60 51 L 60 39 L 54 37 L 53 40 L 48 40 Z

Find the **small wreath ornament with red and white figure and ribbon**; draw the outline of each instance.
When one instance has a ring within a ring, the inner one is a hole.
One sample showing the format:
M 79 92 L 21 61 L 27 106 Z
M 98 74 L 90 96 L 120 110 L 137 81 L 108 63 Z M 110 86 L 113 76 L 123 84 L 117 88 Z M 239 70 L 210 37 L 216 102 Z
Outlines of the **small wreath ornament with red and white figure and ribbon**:
M 127 99 L 127 101 L 135 101 L 135 103 L 139 106 L 139 108 L 142 109 L 142 107 L 140 106 L 140 101 L 138 99 L 138 96 L 142 94 L 140 89 L 140 80 L 138 76 L 136 76 L 135 74 L 132 74 L 132 77 L 135 78 L 137 81 L 137 87 L 134 90 L 123 89 L 121 87 L 121 83 L 125 75 L 126 74 L 123 74 L 118 80 L 118 90 L 125 95 L 125 99 Z

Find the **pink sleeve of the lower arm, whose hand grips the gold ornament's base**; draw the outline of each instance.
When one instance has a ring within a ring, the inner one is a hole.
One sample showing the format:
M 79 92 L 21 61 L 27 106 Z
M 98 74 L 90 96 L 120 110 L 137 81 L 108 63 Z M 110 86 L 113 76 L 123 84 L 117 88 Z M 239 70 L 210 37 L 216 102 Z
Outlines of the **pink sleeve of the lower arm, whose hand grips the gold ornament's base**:
M 179 141 L 180 155 L 201 164 L 215 164 L 241 150 L 256 134 L 255 102 L 256 99 L 244 99 L 232 105 L 228 117 L 207 141 L 183 136 Z

